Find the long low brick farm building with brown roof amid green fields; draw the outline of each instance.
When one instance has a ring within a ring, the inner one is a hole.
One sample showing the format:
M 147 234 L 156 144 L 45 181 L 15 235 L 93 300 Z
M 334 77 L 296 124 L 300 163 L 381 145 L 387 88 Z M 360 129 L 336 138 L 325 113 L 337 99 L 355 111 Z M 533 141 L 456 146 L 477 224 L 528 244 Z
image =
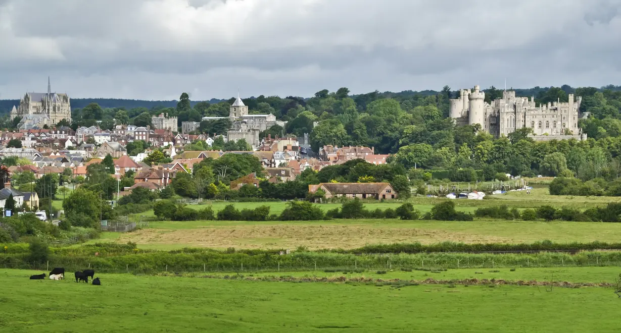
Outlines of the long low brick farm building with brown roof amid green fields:
M 347 197 L 392 200 L 399 196 L 399 193 L 388 183 L 320 183 L 309 185 L 309 192 L 315 193 L 317 190 L 323 190 L 325 198 Z

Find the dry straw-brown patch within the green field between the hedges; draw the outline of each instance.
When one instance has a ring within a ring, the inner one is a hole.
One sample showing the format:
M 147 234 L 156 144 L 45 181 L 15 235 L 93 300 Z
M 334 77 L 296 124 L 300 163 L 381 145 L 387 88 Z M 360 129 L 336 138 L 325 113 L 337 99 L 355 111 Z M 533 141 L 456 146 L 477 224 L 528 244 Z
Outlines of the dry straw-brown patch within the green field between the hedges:
M 201 229 L 140 229 L 123 234 L 118 242 L 137 244 L 187 244 L 191 247 L 240 249 L 296 248 L 352 249 L 365 244 L 421 242 L 513 242 L 509 238 L 415 228 L 369 228 L 365 226 L 268 225 L 206 227 Z

